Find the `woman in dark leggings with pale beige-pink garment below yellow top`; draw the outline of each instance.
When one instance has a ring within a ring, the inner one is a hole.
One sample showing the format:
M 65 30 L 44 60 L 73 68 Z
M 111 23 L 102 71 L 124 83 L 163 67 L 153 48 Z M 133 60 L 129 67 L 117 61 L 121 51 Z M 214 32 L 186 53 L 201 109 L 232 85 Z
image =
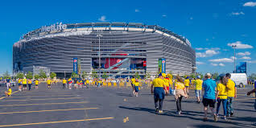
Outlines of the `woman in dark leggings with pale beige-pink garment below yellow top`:
M 175 82 L 175 101 L 176 101 L 176 107 L 177 112 L 176 114 L 181 114 L 181 100 L 182 98 L 188 98 L 187 90 L 185 88 L 185 85 L 183 84 L 183 80 L 180 76 L 177 76 L 177 82 Z

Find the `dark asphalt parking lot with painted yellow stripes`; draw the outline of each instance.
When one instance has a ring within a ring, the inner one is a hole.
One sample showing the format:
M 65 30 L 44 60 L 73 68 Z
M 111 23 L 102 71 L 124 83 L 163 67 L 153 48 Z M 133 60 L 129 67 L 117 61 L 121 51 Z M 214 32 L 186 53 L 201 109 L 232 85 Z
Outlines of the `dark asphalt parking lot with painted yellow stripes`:
M 1 94 L 6 89 L 1 86 Z M 62 89 L 61 84 L 42 83 L 39 89 L 18 92 L 11 97 L 0 97 L 0 127 L 14 128 L 160 128 L 160 127 L 254 127 L 255 97 L 247 97 L 250 88 L 238 89 L 233 102 L 234 117 L 204 122 L 203 105 L 196 103 L 194 91 L 183 99 L 181 115 L 176 115 L 173 96 L 163 102 L 163 114 L 155 114 L 150 89 L 143 88 L 133 97 L 130 88 L 90 87 L 89 89 Z M 2 96 L 2 95 L 1 95 Z M 222 107 L 220 114 L 223 114 Z M 220 116 L 221 116 L 220 115 Z

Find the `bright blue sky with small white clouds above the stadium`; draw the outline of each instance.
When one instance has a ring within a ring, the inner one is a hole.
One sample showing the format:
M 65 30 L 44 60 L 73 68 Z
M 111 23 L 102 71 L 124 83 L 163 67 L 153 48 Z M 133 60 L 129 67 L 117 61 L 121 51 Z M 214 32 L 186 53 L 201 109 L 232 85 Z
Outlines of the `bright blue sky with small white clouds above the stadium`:
M 3 1 L 0 5 L 0 74 L 12 70 L 12 45 L 27 31 L 53 23 L 157 24 L 184 35 L 196 49 L 198 72 L 232 72 L 247 61 L 256 72 L 256 0 Z

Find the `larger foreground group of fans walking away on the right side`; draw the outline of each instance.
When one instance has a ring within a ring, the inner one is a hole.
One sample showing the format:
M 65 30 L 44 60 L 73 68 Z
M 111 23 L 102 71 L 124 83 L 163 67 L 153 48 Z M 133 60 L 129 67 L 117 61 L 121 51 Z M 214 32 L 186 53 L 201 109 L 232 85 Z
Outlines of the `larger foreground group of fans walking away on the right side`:
M 176 114 L 182 113 L 182 99 L 188 98 L 188 88 L 191 84 L 195 85 L 196 101 L 200 103 L 200 97 L 202 90 L 204 91 L 202 103 L 204 105 L 204 121 L 208 120 L 208 109 L 212 111 L 214 121 L 217 122 L 219 117 L 219 111 L 221 104 L 223 106 L 223 119 L 233 116 L 233 100 L 237 97 L 237 88 L 235 82 L 231 79 L 231 74 L 227 73 L 225 76 L 221 76 L 220 81 L 213 81 L 211 74 L 207 73 L 204 76 L 204 80 L 200 79 L 200 76 L 196 77 L 196 80 L 191 81 L 189 77 L 184 80 L 180 76 L 176 76 L 175 80 L 171 80 L 172 76 L 166 76 L 165 73 L 160 73 L 158 78 L 155 78 L 151 85 L 151 93 L 154 94 L 155 112 L 159 114 L 163 113 L 163 99 L 169 94 L 174 95 L 176 102 Z M 171 89 L 170 87 L 174 85 Z M 256 87 L 255 87 L 256 88 Z M 168 91 L 170 89 L 170 91 Z M 256 89 L 248 92 L 255 93 Z M 217 102 L 217 109 L 215 105 Z M 256 103 L 255 103 L 256 109 Z

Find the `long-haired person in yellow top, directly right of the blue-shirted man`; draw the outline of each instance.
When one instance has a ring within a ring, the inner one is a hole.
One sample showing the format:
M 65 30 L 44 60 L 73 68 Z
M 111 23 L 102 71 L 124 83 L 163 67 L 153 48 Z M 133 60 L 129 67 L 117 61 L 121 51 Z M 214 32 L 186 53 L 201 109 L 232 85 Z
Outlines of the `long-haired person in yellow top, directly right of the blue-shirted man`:
M 228 101 L 228 89 L 227 89 L 227 79 L 225 76 L 221 76 L 221 83 L 217 85 L 217 94 L 216 94 L 216 101 L 217 101 L 217 117 L 220 111 L 221 102 L 223 105 L 223 112 L 224 112 L 224 120 L 226 120 L 227 115 L 227 101 Z

